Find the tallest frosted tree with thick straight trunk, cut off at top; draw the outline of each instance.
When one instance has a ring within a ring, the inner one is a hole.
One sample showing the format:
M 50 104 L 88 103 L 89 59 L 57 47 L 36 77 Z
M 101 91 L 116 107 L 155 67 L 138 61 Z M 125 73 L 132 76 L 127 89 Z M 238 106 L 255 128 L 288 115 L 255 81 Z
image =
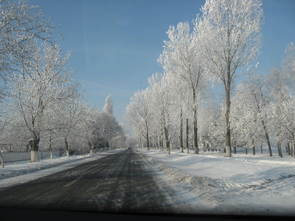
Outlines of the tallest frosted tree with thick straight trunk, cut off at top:
M 194 34 L 207 72 L 224 86 L 226 95 L 226 155 L 231 156 L 230 88 L 232 80 L 250 67 L 262 43 L 261 0 L 207 0 L 196 19 Z

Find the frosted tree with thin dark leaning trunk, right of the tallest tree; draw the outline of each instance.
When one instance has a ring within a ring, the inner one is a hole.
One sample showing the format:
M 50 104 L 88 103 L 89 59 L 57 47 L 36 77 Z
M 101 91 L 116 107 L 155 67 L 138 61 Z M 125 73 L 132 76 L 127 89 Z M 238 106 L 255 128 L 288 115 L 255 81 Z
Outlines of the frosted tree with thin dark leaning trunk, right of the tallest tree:
M 255 142 L 263 139 L 268 144 L 269 154 L 272 156 L 269 138 L 269 98 L 266 95 L 263 76 L 253 75 L 237 86 L 233 95 L 231 110 L 233 131 L 243 139 L 251 136 Z M 241 122 L 245 119 L 246 122 Z M 247 135 L 247 136 L 245 136 Z

